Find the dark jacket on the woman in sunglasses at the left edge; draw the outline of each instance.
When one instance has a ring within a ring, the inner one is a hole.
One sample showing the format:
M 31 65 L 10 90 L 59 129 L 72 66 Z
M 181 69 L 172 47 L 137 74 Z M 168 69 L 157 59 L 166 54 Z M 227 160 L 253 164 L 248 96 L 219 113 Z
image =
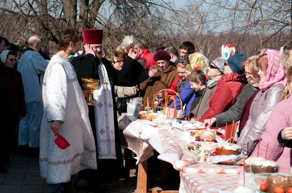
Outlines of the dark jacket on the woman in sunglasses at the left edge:
M 24 89 L 20 72 L 0 65 L 0 121 L 19 122 L 25 117 Z

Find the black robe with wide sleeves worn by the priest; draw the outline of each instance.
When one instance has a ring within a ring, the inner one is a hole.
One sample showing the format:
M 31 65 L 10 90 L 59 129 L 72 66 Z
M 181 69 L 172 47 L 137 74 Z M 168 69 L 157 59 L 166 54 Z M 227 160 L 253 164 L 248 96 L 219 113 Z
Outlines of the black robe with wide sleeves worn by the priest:
M 117 113 L 116 113 L 116 104 L 115 104 L 115 93 L 114 93 L 114 85 L 117 86 L 136 86 L 149 78 L 149 75 L 146 69 L 136 60 L 133 60 L 131 57 L 127 57 L 125 64 L 123 65 L 121 70 L 115 69 L 107 59 L 102 59 L 102 63 L 105 65 L 109 79 L 110 86 L 112 91 L 112 101 L 114 108 L 114 132 L 115 132 L 115 150 L 117 160 L 99 160 L 97 159 L 97 172 L 85 171 L 82 174 L 82 171 L 79 173 L 81 178 L 85 178 L 87 181 L 89 180 L 98 180 L 99 183 L 109 183 L 113 179 L 119 179 L 122 175 L 123 169 L 123 159 L 121 152 L 121 141 L 119 135 L 118 121 L 117 121 Z M 72 65 L 75 69 L 77 79 L 79 84 L 82 87 L 82 77 L 84 78 L 92 78 L 99 80 L 98 74 L 98 65 L 100 61 L 95 58 L 92 54 L 85 55 L 84 53 L 74 57 L 72 60 Z M 100 82 L 102 84 L 103 82 Z M 96 141 L 96 130 L 95 128 L 95 113 L 94 106 L 89 106 L 89 119 L 91 122 L 91 128 L 94 135 L 95 147 L 96 147 L 96 157 L 98 157 L 97 151 L 97 141 Z M 85 176 L 85 177 L 82 177 Z M 90 179 L 89 179 L 90 178 Z M 94 183 L 98 183 L 94 182 Z

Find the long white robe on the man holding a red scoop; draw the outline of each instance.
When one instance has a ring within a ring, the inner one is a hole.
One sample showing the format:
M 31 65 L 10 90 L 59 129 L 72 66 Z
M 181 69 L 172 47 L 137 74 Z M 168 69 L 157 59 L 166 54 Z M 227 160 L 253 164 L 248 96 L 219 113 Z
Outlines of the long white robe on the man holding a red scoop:
M 40 175 L 47 183 L 68 182 L 84 169 L 97 169 L 88 106 L 69 60 L 54 55 L 42 87 L 44 115 L 40 128 Z M 50 122 L 60 120 L 61 134 L 71 145 L 60 149 Z

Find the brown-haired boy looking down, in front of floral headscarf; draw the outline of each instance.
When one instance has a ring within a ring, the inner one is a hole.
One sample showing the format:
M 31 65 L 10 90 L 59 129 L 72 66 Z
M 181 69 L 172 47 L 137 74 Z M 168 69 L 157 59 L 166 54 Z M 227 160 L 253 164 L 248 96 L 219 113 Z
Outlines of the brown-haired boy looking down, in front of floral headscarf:
M 191 88 L 195 90 L 195 99 L 192 102 L 190 112 L 193 111 L 199 104 L 201 97 L 203 96 L 206 88 L 206 75 L 202 70 L 193 71 L 188 77 L 188 81 L 191 84 Z

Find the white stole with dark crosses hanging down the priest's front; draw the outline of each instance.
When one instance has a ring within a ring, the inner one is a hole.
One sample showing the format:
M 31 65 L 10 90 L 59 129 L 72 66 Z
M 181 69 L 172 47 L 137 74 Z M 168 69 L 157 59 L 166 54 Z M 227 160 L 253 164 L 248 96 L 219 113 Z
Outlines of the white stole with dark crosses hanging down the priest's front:
M 117 159 L 115 152 L 113 99 L 111 94 L 110 80 L 106 67 L 100 61 L 98 66 L 100 84 L 93 91 L 95 128 L 97 136 L 98 159 Z M 105 81 L 107 84 L 105 84 Z

